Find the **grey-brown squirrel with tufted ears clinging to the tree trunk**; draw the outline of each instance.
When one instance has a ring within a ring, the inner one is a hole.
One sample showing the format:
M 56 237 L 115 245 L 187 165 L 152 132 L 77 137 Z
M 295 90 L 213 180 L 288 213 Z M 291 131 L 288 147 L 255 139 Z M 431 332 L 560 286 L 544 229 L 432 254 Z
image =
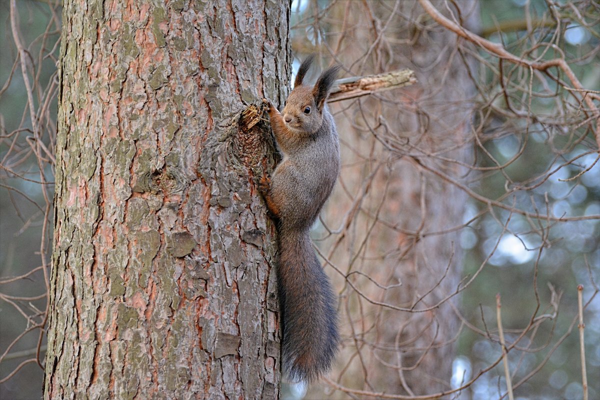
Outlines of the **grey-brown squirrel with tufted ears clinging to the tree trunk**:
M 340 145 L 325 104 L 340 65 L 302 83 L 314 55 L 298 70 L 283 115 L 263 98 L 283 160 L 259 191 L 277 222 L 277 281 L 283 313 L 283 369 L 292 381 L 313 381 L 337 353 L 335 297 L 312 248 L 309 232 L 340 172 Z

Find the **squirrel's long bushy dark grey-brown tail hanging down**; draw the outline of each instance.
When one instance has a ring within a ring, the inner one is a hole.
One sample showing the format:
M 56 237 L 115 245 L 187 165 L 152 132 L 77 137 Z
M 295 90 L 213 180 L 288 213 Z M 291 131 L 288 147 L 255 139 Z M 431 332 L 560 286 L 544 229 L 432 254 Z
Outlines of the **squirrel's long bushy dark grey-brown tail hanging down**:
M 308 231 L 280 227 L 278 236 L 283 367 L 290 380 L 311 381 L 331 367 L 337 352 L 335 297 Z

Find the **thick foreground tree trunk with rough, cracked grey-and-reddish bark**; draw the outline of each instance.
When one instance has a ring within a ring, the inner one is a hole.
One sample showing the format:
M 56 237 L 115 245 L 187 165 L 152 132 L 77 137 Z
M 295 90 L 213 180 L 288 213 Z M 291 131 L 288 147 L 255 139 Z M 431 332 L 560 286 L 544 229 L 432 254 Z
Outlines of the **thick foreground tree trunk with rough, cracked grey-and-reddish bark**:
M 287 2 L 65 2 L 44 398 L 277 398 L 251 184 L 272 160 L 236 113 L 283 103 L 288 20 Z

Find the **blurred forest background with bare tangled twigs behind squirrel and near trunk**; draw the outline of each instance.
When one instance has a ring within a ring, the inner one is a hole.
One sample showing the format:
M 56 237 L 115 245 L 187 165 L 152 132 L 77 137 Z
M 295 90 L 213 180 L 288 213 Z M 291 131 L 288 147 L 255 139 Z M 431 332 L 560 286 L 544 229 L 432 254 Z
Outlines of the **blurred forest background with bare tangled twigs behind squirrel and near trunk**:
M 581 399 L 582 357 L 589 398 L 600 398 L 600 5 L 460 0 L 434 7 L 451 16 L 448 26 L 416 0 L 292 3 L 295 69 L 316 52 L 320 67 L 338 62 L 344 76 L 411 68 L 418 79 L 405 89 L 332 104 L 343 169 L 314 239 L 340 294 L 344 343 L 332 374 L 307 398 L 423 394 L 404 372 L 418 374 L 418 354 L 437 348 L 447 349 L 449 358 L 440 364 L 452 368 L 451 379 L 440 384 L 440 390 L 455 390 L 448 398 L 509 398 L 510 386 L 514 398 Z M 60 16 L 52 1 L 0 2 L 2 399 L 40 398 L 42 390 Z M 458 38 L 452 31 L 458 26 L 527 62 Z M 537 68 L 551 59 L 566 61 L 568 70 Z M 431 89 L 440 90 L 424 98 Z M 397 119 L 403 116 L 408 119 Z M 427 147 L 428 132 L 443 133 L 445 126 L 464 134 L 442 148 Z M 434 196 L 448 198 L 459 224 L 427 229 L 424 204 L 431 201 L 423 193 L 435 181 L 423 177 L 430 175 L 451 188 Z M 413 192 L 420 193 L 412 199 L 416 209 L 402 208 L 405 185 L 421 188 Z M 421 218 L 400 226 L 403 213 Z M 451 245 L 441 249 L 427 242 L 430 237 Z M 430 245 L 416 257 L 419 243 Z M 437 266 L 434 281 L 455 275 L 448 286 L 431 287 L 443 287 L 446 296 L 426 305 L 397 297 L 412 273 L 407 258 L 419 258 L 418 264 L 436 252 L 447 265 Z M 390 341 L 384 332 L 386 326 L 404 329 L 392 324 L 394 312 L 428 315 L 439 305 L 454 325 L 446 329 L 439 323 L 445 315 L 434 317 L 440 336 L 427 348 L 406 350 L 413 342 L 400 333 Z M 509 348 L 506 366 L 502 340 Z M 389 371 L 376 372 L 384 368 Z M 398 386 L 386 387 L 386 374 L 395 375 Z M 305 395 L 296 389 L 286 396 Z

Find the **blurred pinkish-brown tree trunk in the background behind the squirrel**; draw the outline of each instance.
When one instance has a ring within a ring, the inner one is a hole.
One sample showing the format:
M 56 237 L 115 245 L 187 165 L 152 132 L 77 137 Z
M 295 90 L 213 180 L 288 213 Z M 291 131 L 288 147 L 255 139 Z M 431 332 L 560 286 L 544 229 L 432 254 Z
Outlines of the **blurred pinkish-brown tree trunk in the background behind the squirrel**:
M 455 4 L 464 18 L 477 17 L 474 2 Z M 456 298 L 445 299 L 461 278 L 458 227 L 467 197 L 430 169 L 460 180 L 459 163 L 469 163 L 469 67 L 454 34 L 417 22 L 426 19 L 416 2 L 337 5 L 327 20 L 339 22 L 332 31 L 341 33 L 329 36 L 329 48 L 343 49 L 337 59 L 354 66 L 351 74 L 410 68 L 418 84 L 333 107 L 344 142 L 343 190 L 328 212 L 338 212 L 341 225 L 330 229 L 341 234 L 324 253 L 346 282 L 338 285 L 345 340 L 331 377 L 371 393 L 442 392 L 458 330 L 449 305 Z M 310 398 L 325 396 L 317 389 Z

